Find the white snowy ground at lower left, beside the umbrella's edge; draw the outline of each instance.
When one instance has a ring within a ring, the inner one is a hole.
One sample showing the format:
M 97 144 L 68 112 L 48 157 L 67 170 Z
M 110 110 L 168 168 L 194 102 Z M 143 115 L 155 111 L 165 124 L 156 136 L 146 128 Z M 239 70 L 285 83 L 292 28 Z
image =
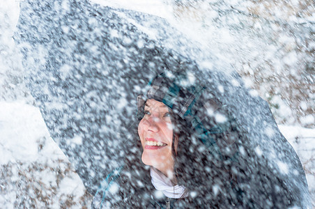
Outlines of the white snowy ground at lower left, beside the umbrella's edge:
M 0 102 L 0 171 L 0 208 L 91 205 L 82 180 L 49 137 L 39 109 L 23 101 Z

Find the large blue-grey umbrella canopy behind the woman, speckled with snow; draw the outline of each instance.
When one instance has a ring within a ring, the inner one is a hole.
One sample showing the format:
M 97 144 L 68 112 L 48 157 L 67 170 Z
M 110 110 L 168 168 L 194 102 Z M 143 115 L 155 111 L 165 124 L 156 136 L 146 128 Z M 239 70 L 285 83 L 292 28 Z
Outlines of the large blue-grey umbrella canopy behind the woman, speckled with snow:
M 21 2 L 17 27 L 31 93 L 92 194 L 123 161 L 124 150 L 135 147 L 137 95 L 157 72 L 185 68 L 236 118 L 240 153 L 252 152 L 244 163 L 252 164 L 254 175 L 263 165 L 307 204 L 302 165 L 268 103 L 252 95 L 231 66 L 166 20 L 88 1 L 29 0 Z

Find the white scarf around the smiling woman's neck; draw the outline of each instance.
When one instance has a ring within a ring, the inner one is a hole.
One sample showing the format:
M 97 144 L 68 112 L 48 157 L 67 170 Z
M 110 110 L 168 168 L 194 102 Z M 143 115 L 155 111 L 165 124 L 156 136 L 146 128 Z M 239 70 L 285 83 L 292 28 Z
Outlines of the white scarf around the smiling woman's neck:
M 150 175 L 151 175 L 151 183 L 155 187 L 155 189 L 162 191 L 163 194 L 169 198 L 174 199 L 180 199 L 183 197 L 188 196 L 188 194 L 185 194 L 185 196 L 182 196 L 185 192 L 184 186 L 179 186 L 171 183 L 171 180 L 163 175 L 160 171 L 157 171 L 155 168 L 151 167 L 150 169 Z

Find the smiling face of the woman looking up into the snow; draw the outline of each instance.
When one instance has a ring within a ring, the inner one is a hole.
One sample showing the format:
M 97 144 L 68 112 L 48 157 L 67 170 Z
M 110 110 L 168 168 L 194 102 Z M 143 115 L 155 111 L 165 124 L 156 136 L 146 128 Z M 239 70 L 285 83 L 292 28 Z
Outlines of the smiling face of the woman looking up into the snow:
M 144 105 L 144 118 L 138 126 L 141 140 L 141 160 L 171 177 L 174 159 L 171 153 L 173 127 L 168 107 L 157 100 L 147 100 Z

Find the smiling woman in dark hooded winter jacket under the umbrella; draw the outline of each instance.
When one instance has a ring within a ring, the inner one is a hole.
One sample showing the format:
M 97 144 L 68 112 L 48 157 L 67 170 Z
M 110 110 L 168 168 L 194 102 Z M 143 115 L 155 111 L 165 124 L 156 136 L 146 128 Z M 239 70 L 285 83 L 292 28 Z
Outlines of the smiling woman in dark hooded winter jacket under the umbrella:
M 157 75 L 137 102 L 142 163 L 140 150 L 130 149 L 124 166 L 96 192 L 93 207 L 294 206 L 286 185 L 268 176 L 266 162 L 242 144 L 247 139 L 229 111 L 190 72 Z M 247 159 L 256 164 L 249 167 Z

